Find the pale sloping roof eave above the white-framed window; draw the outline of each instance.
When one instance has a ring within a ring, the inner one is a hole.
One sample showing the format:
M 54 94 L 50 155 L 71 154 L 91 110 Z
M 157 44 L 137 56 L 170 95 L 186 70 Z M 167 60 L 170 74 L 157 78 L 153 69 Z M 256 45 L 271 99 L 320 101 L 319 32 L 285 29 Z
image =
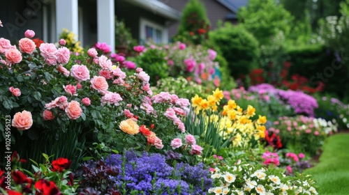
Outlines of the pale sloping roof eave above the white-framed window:
M 161 1 L 128 0 L 127 2 L 133 3 L 133 5 L 135 6 L 144 8 L 146 10 L 151 11 L 154 14 L 161 15 L 170 20 L 180 20 L 181 18 L 181 12 L 179 12 L 178 10 L 175 10 L 174 8 L 171 8 L 170 6 L 166 5 L 165 3 L 162 3 Z

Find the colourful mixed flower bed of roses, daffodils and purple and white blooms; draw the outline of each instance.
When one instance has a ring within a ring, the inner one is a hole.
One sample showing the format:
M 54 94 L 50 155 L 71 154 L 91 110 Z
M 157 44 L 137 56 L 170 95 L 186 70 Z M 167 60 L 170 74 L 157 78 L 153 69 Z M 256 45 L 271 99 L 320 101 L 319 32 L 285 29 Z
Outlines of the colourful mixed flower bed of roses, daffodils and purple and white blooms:
M 299 172 L 336 125 L 313 118 L 310 95 L 256 86 L 255 96 L 233 93 L 261 106 L 242 105 L 216 88 L 214 50 L 180 42 L 165 61 L 186 79 L 169 93 L 137 68 L 159 47 L 135 47 L 143 54 L 126 63 L 101 44 L 73 53 L 64 40 L 37 47 L 26 36 L 19 45 L 0 38 L 0 141 L 11 154 L 3 194 L 318 194 Z M 189 77 L 209 90 L 184 98 Z M 285 112 L 269 110 L 268 123 L 263 107 L 275 104 Z M 290 113 L 308 117 L 277 116 Z

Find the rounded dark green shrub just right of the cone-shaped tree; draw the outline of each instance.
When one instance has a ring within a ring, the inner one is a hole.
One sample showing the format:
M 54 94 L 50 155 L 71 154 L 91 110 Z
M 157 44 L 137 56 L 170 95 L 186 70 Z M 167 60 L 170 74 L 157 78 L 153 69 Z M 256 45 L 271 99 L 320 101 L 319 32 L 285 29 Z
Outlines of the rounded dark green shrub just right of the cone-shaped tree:
M 260 50 L 258 41 L 243 26 L 225 25 L 209 33 L 210 40 L 228 61 L 230 75 L 246 75 L 257 65 Z

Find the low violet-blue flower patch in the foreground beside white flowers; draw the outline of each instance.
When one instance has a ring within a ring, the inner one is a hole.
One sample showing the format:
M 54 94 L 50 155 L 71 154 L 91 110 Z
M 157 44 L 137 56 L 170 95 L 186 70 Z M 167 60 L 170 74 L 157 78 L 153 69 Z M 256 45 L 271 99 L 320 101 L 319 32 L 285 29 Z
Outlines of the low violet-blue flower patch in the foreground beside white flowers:
M 114 181 L 119 188 L 128 192 L 138 190 L 144 194 L 204 194 L 212 185 L 209 170 L 203 164 L 191 166 L 179 163 L 172 168 L 161 154 L 136 153 L 126 151 L 121 155 L 110 155 L 105 164 L 120 169 Z M 180 191 L 179 191 L 180 190 Z

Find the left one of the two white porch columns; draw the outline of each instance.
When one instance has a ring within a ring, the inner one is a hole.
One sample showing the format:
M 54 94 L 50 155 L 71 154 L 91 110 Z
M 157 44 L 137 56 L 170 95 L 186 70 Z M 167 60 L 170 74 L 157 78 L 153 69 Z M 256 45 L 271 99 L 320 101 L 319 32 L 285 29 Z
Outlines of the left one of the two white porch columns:
M 79 17 L 77 0 L 56 0 L 57 41 L 63 29 L 79 35 Z

